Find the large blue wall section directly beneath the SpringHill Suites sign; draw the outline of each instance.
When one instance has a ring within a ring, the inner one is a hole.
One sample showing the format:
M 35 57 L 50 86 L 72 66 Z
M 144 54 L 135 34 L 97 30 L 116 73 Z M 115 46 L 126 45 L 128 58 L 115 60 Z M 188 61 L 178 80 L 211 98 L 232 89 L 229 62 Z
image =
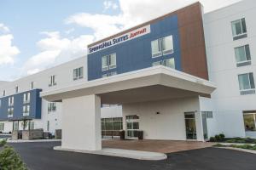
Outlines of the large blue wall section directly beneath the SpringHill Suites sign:
M 181 54 L 179 31 L 177 26 L 177 15 L 166 17 L 150 25 L 151 32 L 127 42 L 122 42 L 109 48 L 102 49 L 93 54 L 88 54 L 88 80 L 101 78 L 103 74 L 117 71 L 118 74 L 128 71 L 136 71 L 152 66 L 154 61 L 175 58 L 175 66 L 178 71 L 181 68 Z M 172 35 L 173 54 L 152 58 L 151 41 Z M 109 71 L 102 71 L 102 56 L 116 54 L 117 68 Z

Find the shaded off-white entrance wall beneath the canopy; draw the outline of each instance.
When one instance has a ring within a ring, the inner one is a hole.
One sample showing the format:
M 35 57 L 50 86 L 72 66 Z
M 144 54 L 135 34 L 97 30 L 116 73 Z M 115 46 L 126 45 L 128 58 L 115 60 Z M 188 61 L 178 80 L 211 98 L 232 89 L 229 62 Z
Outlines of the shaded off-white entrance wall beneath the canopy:
M 138 115 L 144 139 L 186 140 L 184 112 L 195 111 L 197 139 L 203 140 L 199 107 L 197 97 L 123 105 L 123 127 L 126 129 L 125 116 Z

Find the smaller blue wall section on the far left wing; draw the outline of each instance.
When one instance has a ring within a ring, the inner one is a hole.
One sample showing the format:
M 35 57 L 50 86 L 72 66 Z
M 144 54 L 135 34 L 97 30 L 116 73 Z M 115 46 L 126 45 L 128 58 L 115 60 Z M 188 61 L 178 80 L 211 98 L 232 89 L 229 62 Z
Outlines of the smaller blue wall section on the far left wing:
M 23 116 L 23 106 L 30 105 L 29 116 L 26 116 L 27 119 L 40 119 L 42 111 L 42 99 L 40 98 L 41 89 L 33 89 L 19 94 L 14 94 L 6 96 L 1 99 L 2 105 L 0 107 L 0 120 L 22 120 L 25 117 Z M 23 104 L 23 94 L 30 93 L 30 103 Z M 8 109 L 9 109 L 9 97 L 14 96 L 14 115 L 12 118 L 8 118 Z

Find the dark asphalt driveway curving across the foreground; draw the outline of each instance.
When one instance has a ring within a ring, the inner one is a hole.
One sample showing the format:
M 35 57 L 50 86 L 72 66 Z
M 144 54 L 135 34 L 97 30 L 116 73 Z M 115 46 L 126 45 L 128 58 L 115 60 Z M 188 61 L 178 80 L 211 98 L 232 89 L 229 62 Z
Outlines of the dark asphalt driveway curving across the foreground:
M 59 142 L 11 144 L 32 170 L 255 170 L 256 155 L 236 150 L 204 148 L 168 154 L 165 161 L 138 161 L 53 150 Z

